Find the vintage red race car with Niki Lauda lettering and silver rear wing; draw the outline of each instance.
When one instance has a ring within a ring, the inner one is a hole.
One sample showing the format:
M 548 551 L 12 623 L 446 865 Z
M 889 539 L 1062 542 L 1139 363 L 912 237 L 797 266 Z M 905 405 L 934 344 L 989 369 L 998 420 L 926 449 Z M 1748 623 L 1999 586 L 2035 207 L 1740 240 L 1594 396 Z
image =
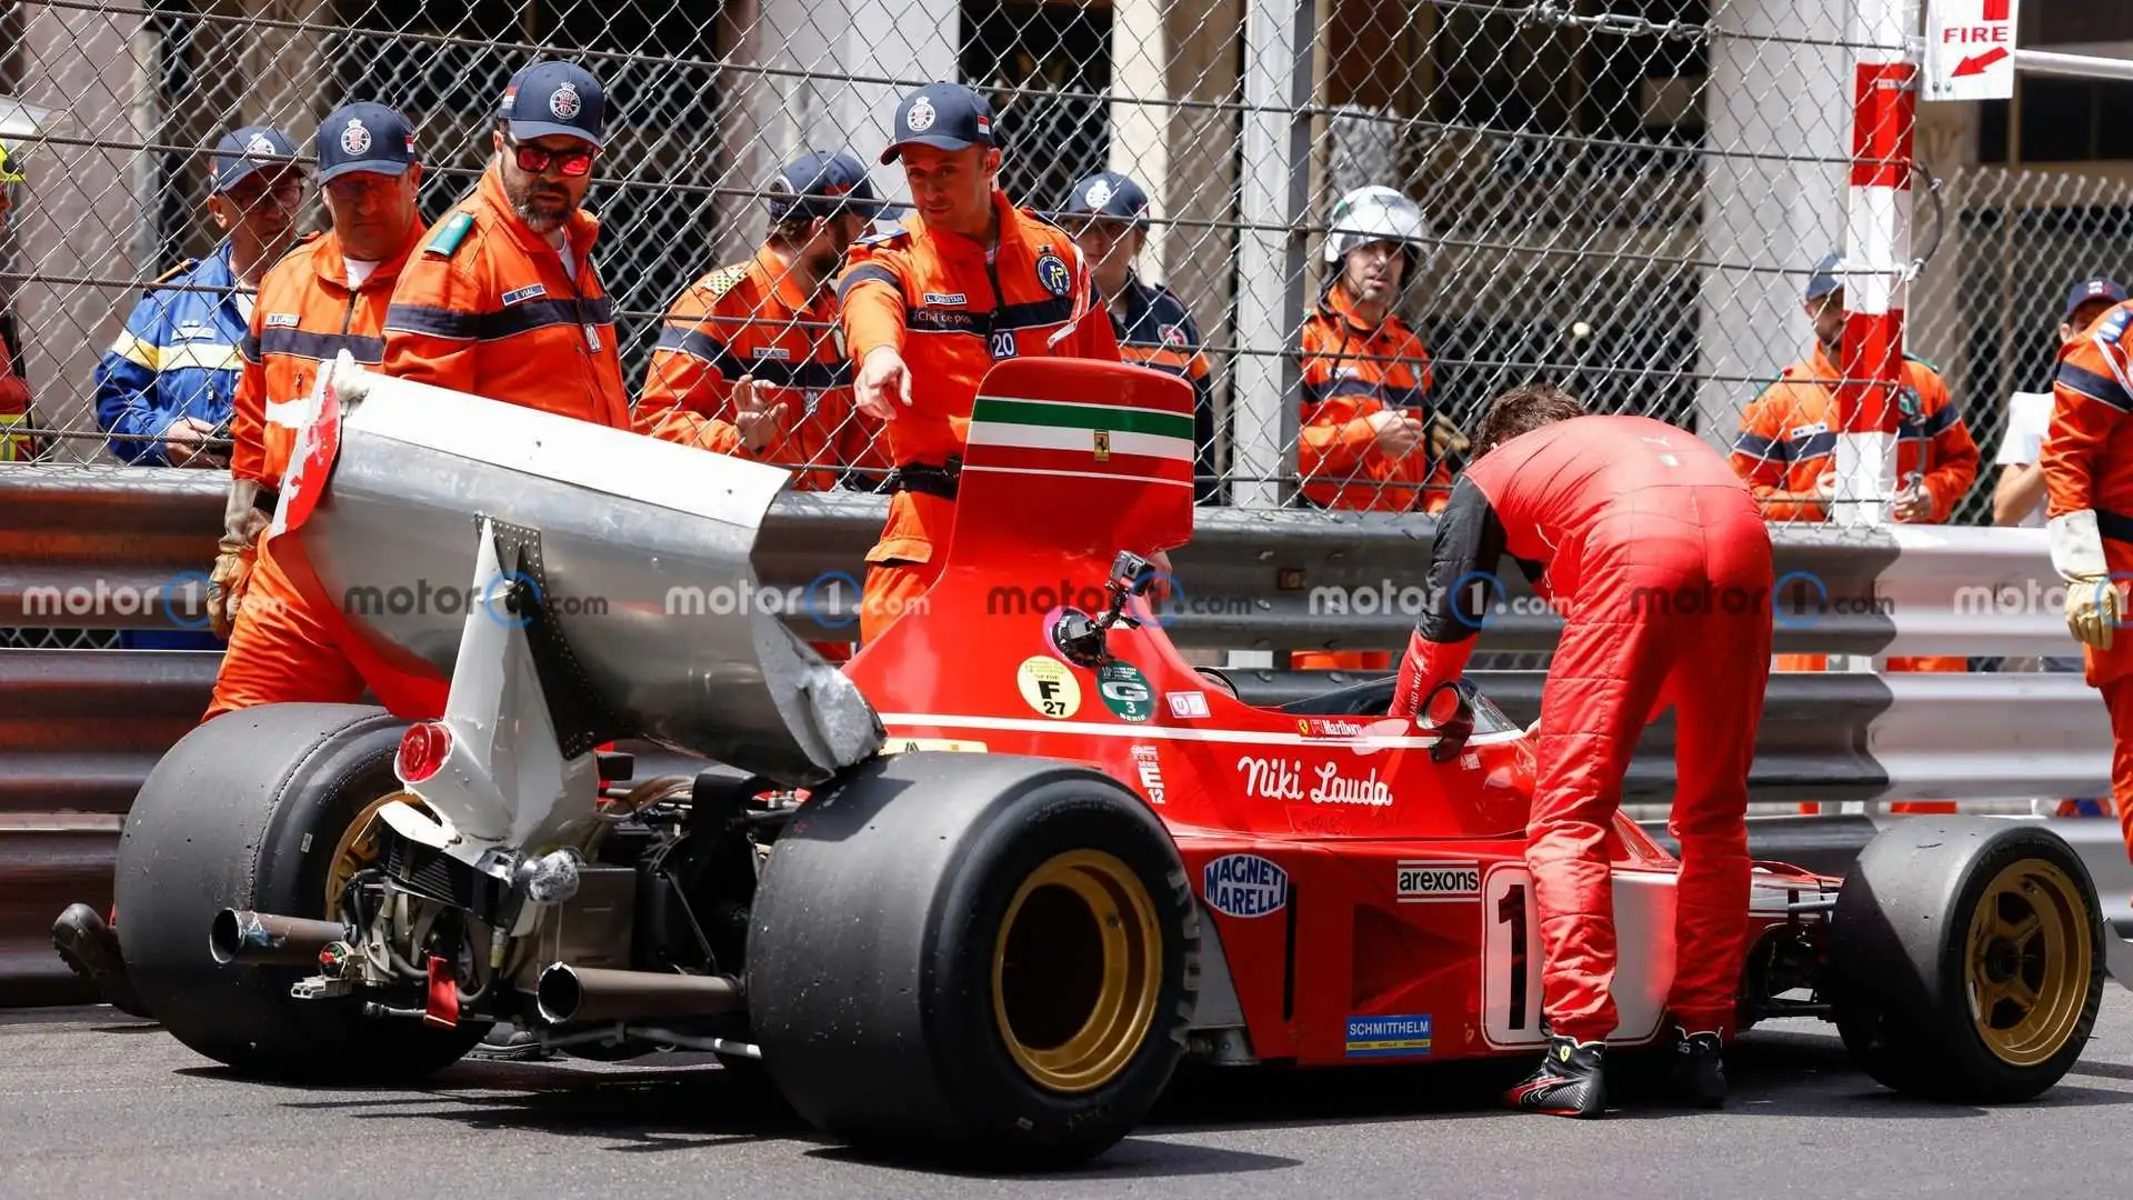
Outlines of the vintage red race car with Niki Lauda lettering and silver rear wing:
M 787 472 L 337 363 L 273 553 L 437 720 L 273 705 L 188 735 L 119 850 L 134 986 L 260 1074 L 420 1078 L 499 1019 L 704 1048 L 853 1144 L 1071 1164 L 1182 1061 L 1540 1044 L 1534 758 L 1470 683 L 1269 709 L 1184 662 L 1148 555 L 1192 532 L 1190 391 L 1009 361 L 941 581 L 851 664 L 768 604 Z M 459 596 L 459 604 L 350 604 Z M 691 596 L 693 602 L 676 602 Z M 627 779 L 612 739 L 704 760 Z M 1666 1027 L 1677 860 L 1619 820 L 1613 1042 Z M 2101 999 L 2082 860 L 1915 818 L 1843 878 L 1755 867 L 1745 1025 L 1822 1016 L 1875 1078 L 2016 1100 Z

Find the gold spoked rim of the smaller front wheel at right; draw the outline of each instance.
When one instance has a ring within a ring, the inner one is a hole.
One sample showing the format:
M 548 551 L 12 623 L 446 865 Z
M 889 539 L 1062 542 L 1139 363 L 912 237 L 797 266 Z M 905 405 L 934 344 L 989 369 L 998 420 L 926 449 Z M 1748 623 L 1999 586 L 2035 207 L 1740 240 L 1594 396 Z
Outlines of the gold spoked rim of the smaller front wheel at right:
M 2007 1065 L 2037 1065 L 2073 1036 L 2092 969 L 2088 903 L 2052 863 L 2009 863 L 1977 897 L 1964 946 L 1971 1021 Z

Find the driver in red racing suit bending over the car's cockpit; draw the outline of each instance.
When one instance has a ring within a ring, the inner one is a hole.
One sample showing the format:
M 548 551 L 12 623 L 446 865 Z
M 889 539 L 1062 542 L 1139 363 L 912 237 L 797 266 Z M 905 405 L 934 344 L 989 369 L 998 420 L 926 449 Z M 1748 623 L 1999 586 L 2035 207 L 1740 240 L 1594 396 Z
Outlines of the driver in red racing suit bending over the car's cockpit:
M 1602 1051 L 1619 1025 L 1610 824 L 1640 730 L 1674 705 L 1674 1085 L 1721 1106 L 1719 1053 L 1747 937 L 1747 773 L 1770 673 L 1768 527 L 1696 433 L 1587 416 L 1553 386 L 1491 401 L 1474 446 L 1440 515 L 1431 609 L 1408 641 L 1391 713 L 1421 713 L 1461 675 L 1485 621 L 1474 577 L 1493 579 L 1499 557 L 1514 557 L 1563 615 L 1563 634 L 1540 694 L 1525 848 L 1549 1042 L 1504 1100 L 1561 1117 L 1606 1108 Z

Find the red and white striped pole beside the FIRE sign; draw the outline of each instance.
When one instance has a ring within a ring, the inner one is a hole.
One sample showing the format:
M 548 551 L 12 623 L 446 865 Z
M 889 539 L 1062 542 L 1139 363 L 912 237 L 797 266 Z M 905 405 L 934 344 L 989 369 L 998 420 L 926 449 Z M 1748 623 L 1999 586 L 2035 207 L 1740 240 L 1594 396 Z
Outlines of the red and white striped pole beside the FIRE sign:
M 1905 36 L 1915 0 L 1856 0 L 1845 337 L 1837 374 L 1837 521 L 1886 525 L 1896 489 L 1896 389 L 1911 271 L 1911 137 L 1918 64 Z

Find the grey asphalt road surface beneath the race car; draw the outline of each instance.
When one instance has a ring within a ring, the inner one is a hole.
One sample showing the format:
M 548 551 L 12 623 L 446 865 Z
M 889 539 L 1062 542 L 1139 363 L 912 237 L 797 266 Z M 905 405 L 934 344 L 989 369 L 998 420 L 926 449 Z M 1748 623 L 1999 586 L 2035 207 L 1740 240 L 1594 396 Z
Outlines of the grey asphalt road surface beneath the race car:
M 1903 1100 L 1847 1065 L 1832 1027 L 1787 1021 L 1732 1051 L 1723 1112 L 1499 1112 L 1499 1078 L 1448 1068 L 1222 1074 L 1182 1080 L 1135 1136 L 1056 1177 L 855 1157 L 695 1055 L 465 1061 L 424 1089 L 299 1089 L 228 1078 L 109 1008 L 0 1010 L 0 1196 L 2067 1200 L 2124 1181 L 2133 995 L 2105 986 L 2082 1061 L 2022 1106 Z

